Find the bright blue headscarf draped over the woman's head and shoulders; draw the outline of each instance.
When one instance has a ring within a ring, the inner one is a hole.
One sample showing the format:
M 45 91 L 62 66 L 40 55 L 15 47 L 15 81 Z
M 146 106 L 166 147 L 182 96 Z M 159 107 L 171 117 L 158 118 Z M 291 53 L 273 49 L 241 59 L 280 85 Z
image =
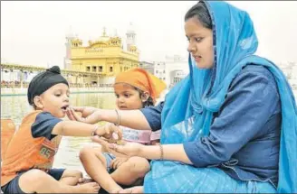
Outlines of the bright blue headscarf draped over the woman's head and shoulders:
M 161 143 L 184 143 L 195 141 L 200 134 L 208 135 L 213 114 L 224 103 L 236 75 L 248 64 L 264 66 L 273 73 L 282 104 L 278 192 L 296 193 L 297 108 L 292 88 L 273 62 L 254 55 L 258 40 L 249 14 L 225 2 L 205 3 L 213 23 L 214 67 L 198 69 L 189 56 L 189 76 L 172 88 L 165 100 Z M 193 115 L 195 127 L 191 132 L 166 130 Z

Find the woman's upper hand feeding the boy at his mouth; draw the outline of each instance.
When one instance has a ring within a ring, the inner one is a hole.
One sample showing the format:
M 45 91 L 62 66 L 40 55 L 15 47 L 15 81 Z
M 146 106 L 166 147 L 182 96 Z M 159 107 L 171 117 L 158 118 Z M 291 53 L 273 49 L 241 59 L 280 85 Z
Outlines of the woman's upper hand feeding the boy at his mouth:
M 81 113 L 78 115 L 76 112 Z M 70 120 L 87 124 L 96 124 L 101 121 L 100 109 L 95 107 L 74 106 L 67 109 L 67 116 Z

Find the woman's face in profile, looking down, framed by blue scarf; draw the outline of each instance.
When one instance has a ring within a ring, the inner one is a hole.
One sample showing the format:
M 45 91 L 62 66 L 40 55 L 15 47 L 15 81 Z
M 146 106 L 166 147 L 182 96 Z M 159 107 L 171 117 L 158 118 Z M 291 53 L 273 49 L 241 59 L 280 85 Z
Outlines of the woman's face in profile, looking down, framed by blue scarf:
M 185 23 L 188 40 L 187 51 L 196 61 L 199 69 L 211 69 L 214 65 L 213 32 L 204 27 L 196 18 L 190 18 Z

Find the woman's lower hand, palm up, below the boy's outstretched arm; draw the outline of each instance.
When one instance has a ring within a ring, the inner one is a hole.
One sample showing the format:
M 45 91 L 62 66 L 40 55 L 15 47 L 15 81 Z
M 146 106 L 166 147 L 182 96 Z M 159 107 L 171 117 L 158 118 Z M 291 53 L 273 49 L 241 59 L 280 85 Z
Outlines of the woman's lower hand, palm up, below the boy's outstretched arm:
M 141 150 L 145 146 L 140 143 L 125 143 L 124 145 L 108 143 L 98 136 L 91 137 L 91 140 L 95 143 L 100 143 L 102 146 L 107 147 L 108 150 L 111 153 L 115 153 L 115 155 L 125 155 L 126 157 L 139 156 Z

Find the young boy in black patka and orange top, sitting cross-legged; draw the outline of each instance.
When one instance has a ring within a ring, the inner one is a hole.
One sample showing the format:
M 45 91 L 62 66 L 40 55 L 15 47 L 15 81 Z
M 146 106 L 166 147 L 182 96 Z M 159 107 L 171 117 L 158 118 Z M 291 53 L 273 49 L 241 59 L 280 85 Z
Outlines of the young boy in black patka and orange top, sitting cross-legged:
M 52 169 L 60 135 L 103 135 L 113 129 L 76 121 L 64 121 L 69 107 L 69 84 L 54 66 L 30 82 L 28 101 L 34 111 L 26 115 L 8 144 L 1 166 L 4 193 L 98 193 L 96 182 L 78 184 L 81 171 Z M 105 130 L 105 131 L 104 131 Z

